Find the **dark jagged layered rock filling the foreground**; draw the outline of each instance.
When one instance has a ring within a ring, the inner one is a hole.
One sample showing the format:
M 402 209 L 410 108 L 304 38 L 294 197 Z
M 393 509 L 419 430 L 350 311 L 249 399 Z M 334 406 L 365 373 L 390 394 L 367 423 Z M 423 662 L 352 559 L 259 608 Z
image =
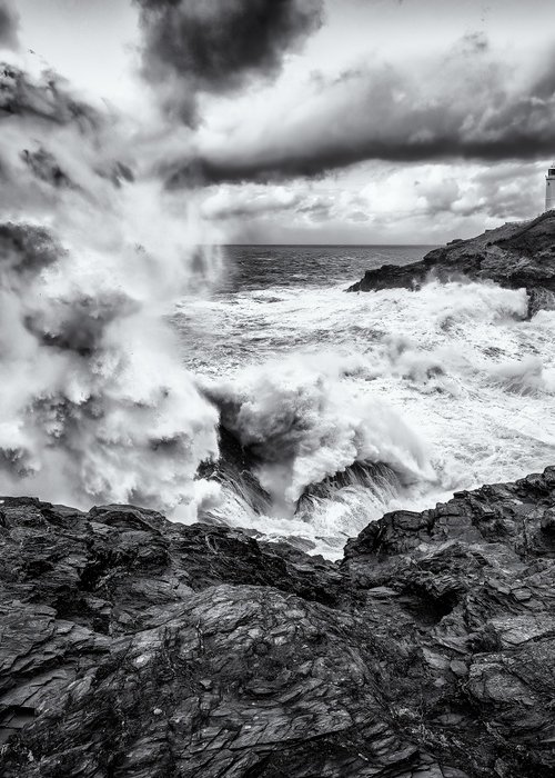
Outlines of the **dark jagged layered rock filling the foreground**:
M 0 545 L 7 778 L 555 776 L 555 468 L 341 565 L 28 498 Z

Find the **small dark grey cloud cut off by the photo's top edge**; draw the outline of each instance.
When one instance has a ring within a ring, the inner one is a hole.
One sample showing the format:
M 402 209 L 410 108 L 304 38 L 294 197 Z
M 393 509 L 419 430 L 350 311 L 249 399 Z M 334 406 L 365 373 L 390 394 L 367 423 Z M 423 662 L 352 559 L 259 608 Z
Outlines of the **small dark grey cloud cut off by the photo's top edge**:
M 283 56 L 321 24 L 322 0 L 135 0 L 143 72 L 168 88 L 167 107 L 194 118 L 198 91 L 226 92 L 274 76 Z M 168 81 L 170 79 L 170 83 Z

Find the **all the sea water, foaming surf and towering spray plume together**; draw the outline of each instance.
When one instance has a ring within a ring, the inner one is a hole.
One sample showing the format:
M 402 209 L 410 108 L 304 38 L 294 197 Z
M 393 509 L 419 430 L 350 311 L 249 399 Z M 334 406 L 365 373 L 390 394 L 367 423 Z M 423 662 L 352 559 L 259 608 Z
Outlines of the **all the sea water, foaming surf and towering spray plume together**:
M 425 247 L 220 247 L 202 190 L 167 186 L 164 122 L 0 81 L 0 493 L 335 558 L 387 510 L 555 461 L 555 312 L 524 290 L 345 293 Z

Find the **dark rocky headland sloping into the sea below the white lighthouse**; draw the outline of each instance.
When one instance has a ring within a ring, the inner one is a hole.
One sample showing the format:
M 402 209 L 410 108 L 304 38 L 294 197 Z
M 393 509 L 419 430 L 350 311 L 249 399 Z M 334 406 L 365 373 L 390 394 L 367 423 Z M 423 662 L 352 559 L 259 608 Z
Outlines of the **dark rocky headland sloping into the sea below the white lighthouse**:
M 383 265 L 369 270 L 347 291 L 417 288 L 440 281 L 470 278 L 495 281 L 528 292 L 528 315 L 555 308 L 555 211 L 524 223 L 507 223 L 472 240 L 456 240 L 430 251 L 420 262 Z

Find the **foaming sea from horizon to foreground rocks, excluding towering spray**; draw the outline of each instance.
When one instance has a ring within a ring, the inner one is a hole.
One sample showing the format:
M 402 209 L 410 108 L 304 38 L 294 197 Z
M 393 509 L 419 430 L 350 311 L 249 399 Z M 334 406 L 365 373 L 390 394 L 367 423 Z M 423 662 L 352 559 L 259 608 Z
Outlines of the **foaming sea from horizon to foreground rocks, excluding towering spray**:
M 430 248 L 226 247 L 181 300 L 181 358 L 270 495 L 224 482 L 212 518 L 335 558 L 389 510 L 555 461 L 555 312 L 493 283 L 345 293 Z

